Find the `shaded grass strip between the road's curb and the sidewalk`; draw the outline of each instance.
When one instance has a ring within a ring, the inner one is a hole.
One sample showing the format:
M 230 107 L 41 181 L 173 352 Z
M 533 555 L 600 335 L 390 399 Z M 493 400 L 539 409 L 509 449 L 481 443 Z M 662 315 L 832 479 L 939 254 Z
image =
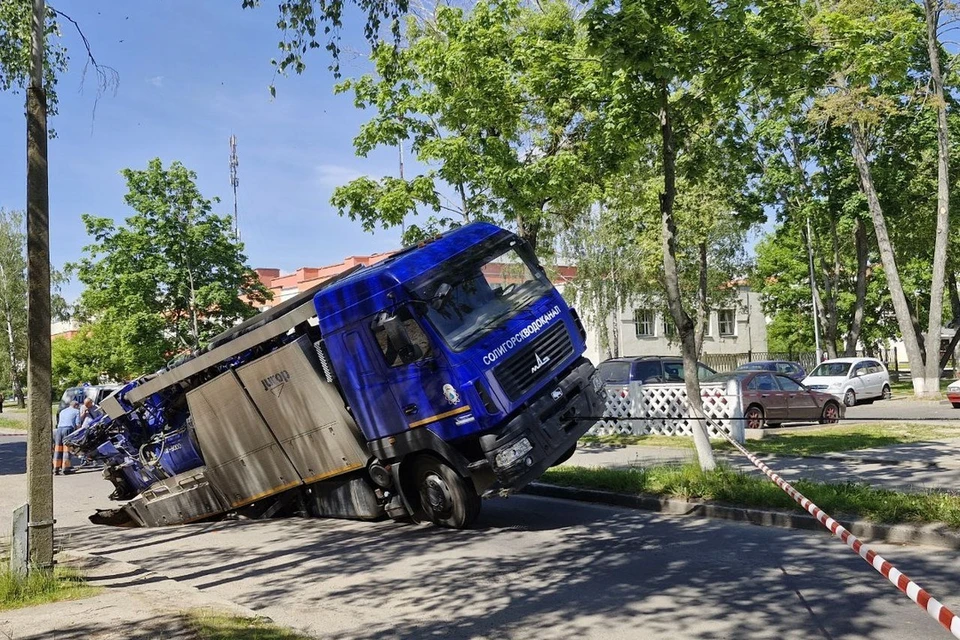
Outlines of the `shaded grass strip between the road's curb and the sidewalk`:
M 647 469 L 556 467 L 544 474 L 543 481 L 567 487 L 803 511 L 770 480 L 725 467 L 711 472 L 701 471 L 695 464 Z M 944 522 L 960 528 L 960 496 L 899 493 L 872 489 L 864 484 L 826 484 L 806 480 L 797 481 L 793 486 L 834 517 L 884 523 Z

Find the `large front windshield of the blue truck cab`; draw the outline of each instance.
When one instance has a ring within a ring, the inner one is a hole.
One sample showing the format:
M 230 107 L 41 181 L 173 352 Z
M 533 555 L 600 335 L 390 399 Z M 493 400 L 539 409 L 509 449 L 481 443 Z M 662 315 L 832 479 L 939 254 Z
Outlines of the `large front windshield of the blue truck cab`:
M 498 322 L 542 297 L 550 281 L 532 253 L 516 240 L 443 263 L 438 274 L 414 288 L 427 317 L 452 349 L 462 349 Z

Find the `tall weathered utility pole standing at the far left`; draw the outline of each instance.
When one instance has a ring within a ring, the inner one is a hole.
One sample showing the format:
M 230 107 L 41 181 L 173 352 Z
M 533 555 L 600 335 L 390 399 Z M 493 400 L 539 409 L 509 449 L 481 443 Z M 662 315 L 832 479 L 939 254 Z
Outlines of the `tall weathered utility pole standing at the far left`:
M 46 8 L 33 0 L 27 89 L 27 498 L 30 563 L 53 566 L 53 462 L 50 420 L 50 201 L 47 191 L 47 97 L 43 90 Z

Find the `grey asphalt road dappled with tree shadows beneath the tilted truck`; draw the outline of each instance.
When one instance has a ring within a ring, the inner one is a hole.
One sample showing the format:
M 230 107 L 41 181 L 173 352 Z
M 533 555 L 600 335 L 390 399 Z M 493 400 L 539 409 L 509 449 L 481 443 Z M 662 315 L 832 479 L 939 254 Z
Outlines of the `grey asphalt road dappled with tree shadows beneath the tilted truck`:
M 16 440 L 0 439 L 2 532 L 25 492 Z M 54 480 L 61 544 L 320 638 L 947 637 L 825 533 L 528 496 L 486 502 L 468 531 L 320 519 L 115 529 L 85 522 L 110 506 L 98 474 Z M 876 548 L 960 609 L 960 555 Z M 69 637 L 98 624 L 78 620 Z

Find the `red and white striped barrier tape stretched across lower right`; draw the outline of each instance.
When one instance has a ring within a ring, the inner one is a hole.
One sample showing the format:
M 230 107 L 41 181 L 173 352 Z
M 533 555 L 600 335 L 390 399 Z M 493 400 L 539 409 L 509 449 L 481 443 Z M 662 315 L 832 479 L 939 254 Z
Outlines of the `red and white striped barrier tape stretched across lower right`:
M 943 625 L 954 637 L 960 638 L 960 617 L 957 617 L 950 609 L 940 604 L 936 598 L 927 593 L 916 582 L 908 578 L 905 574 L 900 573 L 892 564 L 884 560 L 880 554 L 861 542 L 859 538 L 847 531 L 839 522 L 828 516 L 820 507 L 810 502 L 806 496 L 790 486 L 789 482 L 774 473 L 770 467 L 760 462 L 756 456 L 747 451 L 743 445 L 731 438 L 725 431 L 721 429 L 720 433 L 723 434 L 723 437 L 729 440 L 740 453 L 747 456 L 750 462 L 767 474 L 767 476 L 773 480 L 778 487 L 783 489 L 788 496 L 793 498 L 797 504 L 806 509 L 820 524 L 829 529 L 830 533 L 840 538 L 848 547 L 857 552 L 857 554 L 866 560 L 871 567 L 876 569 L 880 575 L 889 580 L 895 587 L 900 589 L 900 591 L 907 594 L 908 598 L 930 614 L 931 618 Z

